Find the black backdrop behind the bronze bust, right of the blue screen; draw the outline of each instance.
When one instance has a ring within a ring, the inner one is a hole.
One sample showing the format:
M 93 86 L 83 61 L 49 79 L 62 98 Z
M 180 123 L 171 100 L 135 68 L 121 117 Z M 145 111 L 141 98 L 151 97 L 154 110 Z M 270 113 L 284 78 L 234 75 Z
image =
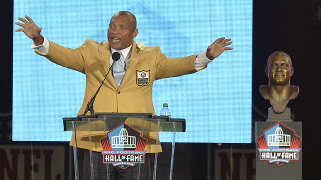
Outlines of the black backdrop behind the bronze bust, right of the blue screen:
M 320 10 L 319 10 L 320 8 Z M 318 14 L 318 15 L 317 15 Z M 253 3 L 253 107 L 267 115 L 270 104 L 258 88 L 267 84 L 264 67 L 275 51 L 288 53 L 294 75 L 291 85 L 300 94 L 291 101 L 292 118 L 303 122 L 303 179 L 319 179 L 321 158 L 321 1 L 254 1 Z M 253 110 L 253 120 L 263 120 Z

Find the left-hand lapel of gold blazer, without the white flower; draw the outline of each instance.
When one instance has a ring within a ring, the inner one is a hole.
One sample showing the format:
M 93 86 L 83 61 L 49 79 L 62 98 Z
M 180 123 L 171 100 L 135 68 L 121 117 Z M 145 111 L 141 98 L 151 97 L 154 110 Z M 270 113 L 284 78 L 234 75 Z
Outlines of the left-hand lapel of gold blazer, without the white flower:
M 108 69 L 110 68 L 109 65 L 109 60 L 110 60 L 110 46 L 108 41 L 102 42 L 99 44 L 99 55 L 100 55 L 100 63 L 103 67 L 103 69 L 105 70 L 105 74 L 103 74 L 103 76 L 106 75 Z M 109 71 L 106 81 L 108 82 L 108 85 L 110 85 L 111 87 L 113 87 L 115 90 L 117 90 L 117 86 L 115 83 L 115 80 L 111 74 L 111 70 Z

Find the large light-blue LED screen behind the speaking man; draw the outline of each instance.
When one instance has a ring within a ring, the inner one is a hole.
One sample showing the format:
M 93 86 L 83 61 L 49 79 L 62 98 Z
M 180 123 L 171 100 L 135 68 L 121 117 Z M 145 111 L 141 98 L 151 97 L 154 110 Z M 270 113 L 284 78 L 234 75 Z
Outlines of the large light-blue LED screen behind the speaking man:
M 136 42 L 159 45 L 168 57 L 198 54 L 219 37 L 232 38 L 234 50 L 206 69 L 155 81 L 153 103 L 157 115 L 168 103 L 171 118 L 186 119 L 186 132 L 177 133 L 176 142 L 251 142 L 251 0 L 15 0 L 13 18 L 28 15 L 44 37 L 77 48 L 85 39 L 106 41 L 109 20 L 118 11 L 136 16 Z M 13 25 L 13 31 L 18 28 Z M 62 118 L 76 117 L 85 76 L 37 55 L 31 43 L 13 32 L 13 140 L 70 141 Z M 169 133 L 160 139 L 172 140 Z

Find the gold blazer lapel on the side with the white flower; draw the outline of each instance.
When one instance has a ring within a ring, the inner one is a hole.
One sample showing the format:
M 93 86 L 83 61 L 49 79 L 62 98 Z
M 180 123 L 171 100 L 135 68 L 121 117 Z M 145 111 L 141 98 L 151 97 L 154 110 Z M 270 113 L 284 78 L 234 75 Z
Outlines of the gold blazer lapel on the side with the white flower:
M 136 77 L 136 74 L 135 74 L 136 73 L 136 69 L 135 69 L 135 67 L 136 67 L 136 64 L 137 64 L 137 62 L 139 60 L 140 55 L 142 54 L 142 52 L 137 53 L 136 46 L 137 46 L 137 44 L 136 44 L 136 42 L 134 40 L 133 41 L 133 46 L 132 46 L 132 54 L 130 56 L 130 61 L 129 61 L 129 66 L 128 66 L 127 70 L 126 70 L 125 76 L 124 76 L 119 88 L 121 88 L 122 86 L 128 84 L 128 82 L 130 81 L 130 79 L 132 77 Z

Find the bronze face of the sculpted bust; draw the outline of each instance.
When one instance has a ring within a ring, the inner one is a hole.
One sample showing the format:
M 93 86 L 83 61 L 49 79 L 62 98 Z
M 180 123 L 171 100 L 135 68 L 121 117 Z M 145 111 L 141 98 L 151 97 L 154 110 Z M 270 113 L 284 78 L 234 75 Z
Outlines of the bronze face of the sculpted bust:
M 293 67 L 291 67 L 290 59 L 283 54 L 276 54 L 270 57 L 265 73 L 270 83 L 276 85 L 286 85 L 290 83 L 293 75 Z

